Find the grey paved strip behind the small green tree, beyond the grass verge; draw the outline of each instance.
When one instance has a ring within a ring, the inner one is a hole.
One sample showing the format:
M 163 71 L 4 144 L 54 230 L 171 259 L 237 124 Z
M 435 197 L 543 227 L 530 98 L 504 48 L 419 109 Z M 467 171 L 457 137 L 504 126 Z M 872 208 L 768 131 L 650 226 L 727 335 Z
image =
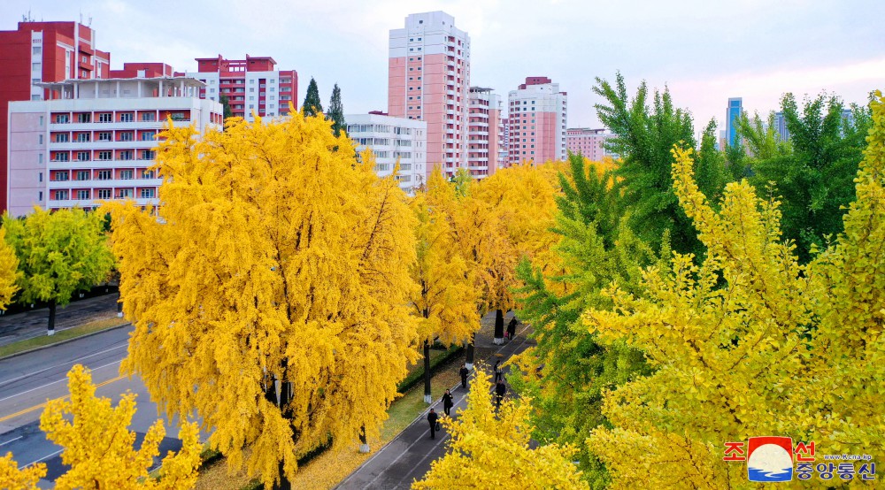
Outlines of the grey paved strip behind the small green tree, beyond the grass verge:
M 117 316 L 117 295 L 102 295 L 71 302 L 56 310 L 56 331 Z M 50 310 L 42 308 L 0 316 L 0 346 L 46 335 Z

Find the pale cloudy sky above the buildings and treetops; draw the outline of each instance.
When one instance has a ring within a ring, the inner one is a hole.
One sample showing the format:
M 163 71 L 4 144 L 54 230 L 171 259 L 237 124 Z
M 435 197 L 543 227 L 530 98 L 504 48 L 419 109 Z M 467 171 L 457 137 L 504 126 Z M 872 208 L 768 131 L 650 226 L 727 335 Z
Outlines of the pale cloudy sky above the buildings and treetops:
M 798 0 L 3 0 L 0 29 L 22 14 L 91 19 L 112 68 L 161 61 L 196 69 L 195 57 L 272 56 L 311 77 L 346 112 L 387 107 L 389 29 L 409 13 L 442 10 L 471 36 L 471 83 L 506 98 L 546 75 L 569 96 L 569 126 L 598 126 L 596 77 L 624 74 L 670 88 L 696 129 L 725 117 L 727 98 L 767 112 L 781 94 L 835 93 L 864 102 L 885 88 L 885 1 Z

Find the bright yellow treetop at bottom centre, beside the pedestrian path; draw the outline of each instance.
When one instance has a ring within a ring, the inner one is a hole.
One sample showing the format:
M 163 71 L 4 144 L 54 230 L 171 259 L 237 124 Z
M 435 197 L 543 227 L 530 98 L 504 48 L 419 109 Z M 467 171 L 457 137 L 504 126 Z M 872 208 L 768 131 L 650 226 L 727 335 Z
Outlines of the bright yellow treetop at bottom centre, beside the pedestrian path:
M 412 488 L 588 488 L 569 457 L 574 448 L 529 448 L 531 400 L 502 402 L 496 416 L 489 374 L 476 371 L 467 409 L 443 417 L 451 440 L 443 458 Z

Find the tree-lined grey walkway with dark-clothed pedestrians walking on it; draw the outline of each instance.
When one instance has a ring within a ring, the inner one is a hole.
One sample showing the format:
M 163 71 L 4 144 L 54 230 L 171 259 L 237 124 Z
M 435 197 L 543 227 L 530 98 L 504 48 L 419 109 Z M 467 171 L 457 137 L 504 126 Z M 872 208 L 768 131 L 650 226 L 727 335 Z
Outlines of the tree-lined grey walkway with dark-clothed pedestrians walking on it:
M 494 312 L 491 313 L 492 324 L 494 324 Z M 504 325 L 512 318 L 507 315 L 504 318 Z M 483 318 L 483 324 L 486 324 L 486 318 Z M 535 341 L 527 338 L 530 329 L 526 325 L 519 325 L 517 328 L 516 339 L 513 341 L 504 341 L 504 345 L 496 346 L 492 343 L 492 329 L 483 327 L 476 334 L 475 359 L 477 365 L 480 362 L 487 364 L 486 369 L 491 370 L 491 366 L 495 364 L 496 359 L 500 359 L 501 363 L 509 359 L 512 355 L 522 352 L 526 348 L 535 345 Z M 506 382 L 509 368 L 504 369 L 504 381 Z M 468 385 L 469 390 L 469 385 Z M 452 417 L 457 418 L 458 410 L 466 408 L 467 390 L 461 388 L 458 383 L 451 390 L 455 398 L 455 406 L 451 410 Z M 512 392 L 508 386 L 507 396 L 511 396 Z M 427 413 L 433 408 L 437 413 L 443 415 L 443 404 L 440 400 L 436 400 L 427 410 L 421 413 L 411 425 L 391 440 L 386 446 L 375 453 L 366 463 L 360 466 L 357 471 L 350 473 L 338 486 L 342 490 L 350 489 L 372 489 L 383 488 L 385 490 L 407 489 L 412 486 L 414 479 L 421 479 L 430 469 L 430 463 L 435 459 L 442 457 L 446 451 L 446 441 L 449 440 L 449 434 L 443 432 L 436 434 L 436 439 L 430 439 L 430 426 L 427 424 Z

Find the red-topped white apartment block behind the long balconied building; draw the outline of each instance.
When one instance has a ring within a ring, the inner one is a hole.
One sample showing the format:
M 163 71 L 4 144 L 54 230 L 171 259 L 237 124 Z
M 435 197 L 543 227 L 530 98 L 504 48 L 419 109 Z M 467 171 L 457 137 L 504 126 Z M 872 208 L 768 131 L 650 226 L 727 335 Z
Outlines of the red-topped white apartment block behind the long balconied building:
M 227 96 L 235 116 L 247 121 L 254 120 L 253 112 L 262 118 L 287 116 L 289 103 L 298 109 L 298 73 L 278 71 L 273 57 L 225 59 L 219 55 L 198 57 L 196 63 L 196 72 L 184 74 L 206 84 L 200 98 L 217 101 Z

